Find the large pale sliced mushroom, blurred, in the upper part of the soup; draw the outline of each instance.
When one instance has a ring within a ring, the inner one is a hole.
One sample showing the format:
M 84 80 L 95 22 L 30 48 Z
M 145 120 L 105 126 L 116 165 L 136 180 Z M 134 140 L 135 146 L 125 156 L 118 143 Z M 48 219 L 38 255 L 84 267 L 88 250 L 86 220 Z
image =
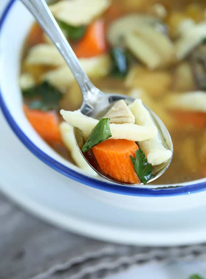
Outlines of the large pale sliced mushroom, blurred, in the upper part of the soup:
M 112 46 L 123 46 L 149 68 L 154 69 L 174 60 L 174 45 L 158 17 L 132 14 L 112 23 L 108 31 Z

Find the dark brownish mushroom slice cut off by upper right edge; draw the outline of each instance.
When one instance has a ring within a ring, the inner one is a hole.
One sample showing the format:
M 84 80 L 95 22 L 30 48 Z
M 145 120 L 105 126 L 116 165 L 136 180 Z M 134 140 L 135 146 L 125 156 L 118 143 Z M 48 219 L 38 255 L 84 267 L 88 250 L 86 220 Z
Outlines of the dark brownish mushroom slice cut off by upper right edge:
M 191 54 L 192 70 L 200 90 L 206 90 L 206 44 L 199 45 Z

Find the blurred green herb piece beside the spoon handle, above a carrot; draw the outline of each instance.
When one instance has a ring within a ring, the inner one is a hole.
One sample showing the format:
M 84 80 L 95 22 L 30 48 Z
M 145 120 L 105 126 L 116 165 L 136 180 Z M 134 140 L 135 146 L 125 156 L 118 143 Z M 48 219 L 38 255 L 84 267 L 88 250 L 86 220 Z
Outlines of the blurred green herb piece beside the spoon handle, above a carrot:
M 81 39 L 86 31 L 85 26 L 72 26 L 64 21 L 58 21 L 59 27 L 65 32 L 68 39 L 77 41 Z

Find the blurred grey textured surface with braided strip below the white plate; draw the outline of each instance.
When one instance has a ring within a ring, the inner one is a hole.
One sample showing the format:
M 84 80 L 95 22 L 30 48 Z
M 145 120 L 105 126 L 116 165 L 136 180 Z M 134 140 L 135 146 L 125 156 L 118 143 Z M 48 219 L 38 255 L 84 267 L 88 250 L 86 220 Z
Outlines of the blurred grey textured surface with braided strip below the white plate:
M 116 245 L 53 227 L 0 195 L 1 279 L 96 279 L 148 261 L 205 257 L 206 245 Z

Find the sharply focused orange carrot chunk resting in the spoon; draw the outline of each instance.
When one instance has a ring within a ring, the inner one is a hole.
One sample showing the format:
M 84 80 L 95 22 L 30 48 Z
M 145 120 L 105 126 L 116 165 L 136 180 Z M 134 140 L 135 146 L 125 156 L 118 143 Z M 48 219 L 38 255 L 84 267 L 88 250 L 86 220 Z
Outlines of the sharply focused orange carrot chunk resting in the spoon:
M 130 155 L 138 149 L 134 141 L 106 140 L 92 147 L 93 154 L 103 173 L 121 182 L 139 184 Z

